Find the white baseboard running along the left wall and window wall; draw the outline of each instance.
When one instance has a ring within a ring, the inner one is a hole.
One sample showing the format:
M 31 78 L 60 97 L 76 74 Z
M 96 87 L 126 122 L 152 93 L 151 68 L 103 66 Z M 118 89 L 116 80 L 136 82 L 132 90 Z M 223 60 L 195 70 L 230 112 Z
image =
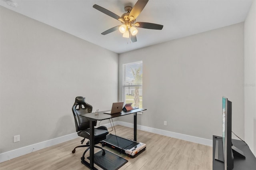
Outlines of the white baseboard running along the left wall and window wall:
M 122 125 L 122 126 L 125 126 L 125 127 L 133 128 L 132 123 L 126 123 L 126 122 L 122 122 L 122 121 L 115 121 L 114 125 Z M 110 123 L 105 124 L 104 126 L 106 126 L 107 128 L 111 127 Z M 209 140 L 209 139 L 198 138 L 198 137 L 195 137 L 195 136 L 189 136 L 189 135 L 186 135 L 186 134 L 180 134 L 180 133 L 176 133 L 176 132 L 170 132 L 170 131 L 167 131 L 167 130 L 145 127 L 145 126 L 141 126 L 141 125 L 137 125 L 137 129 L 138 130 L 144 130 L 144 131 L 147 131 L 147 132 L 162 134 L 164 136 L 170 136 L 170 137 L 173 137 L 173 138 L 179 138 L 179 139 L 187 140 L 187 141 L 190 141 L 190 142 L 195 142 L 195 143 L 199 143 L 199 144 L 212 146 L 212 140 Z M 43 149 L 43 148 L 47 148 L 47 147 L 53 146 L 55 144 L 66 142 L 68 140 L 72 140 L 72 139 L 77 138 L 77 137 L 78 137 L 77 133 L 72 133 L 72 134 L 68 134 L 66 136 L 61 136 L 61 137 L 58 137 L 58 138 L 46 140 L 44 142 L 39 142 L 39 143 L 36 143 L 36 144 L 32 144 L 32 145 L 29 145 L 29 146 L 25 146 L 25 147 L 22 147 L 22 148 L 18 148 L 18 149 L 15 149 L 15 150 L 4 152 L 4 153 L 0 154 L 0 162 L 11 160 L 13 158 L 16 158 L 16 157 L 19 157 L 19 156 L 22 156 L 22 155 L 25 155 L 25 154 Z

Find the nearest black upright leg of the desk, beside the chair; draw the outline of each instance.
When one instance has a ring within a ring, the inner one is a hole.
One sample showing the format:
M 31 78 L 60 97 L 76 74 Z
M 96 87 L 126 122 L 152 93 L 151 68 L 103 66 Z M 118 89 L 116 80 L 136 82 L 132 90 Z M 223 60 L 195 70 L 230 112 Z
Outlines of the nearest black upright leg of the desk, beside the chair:
M 94 123 L 90 121 L 90 168 L 94 169 Z

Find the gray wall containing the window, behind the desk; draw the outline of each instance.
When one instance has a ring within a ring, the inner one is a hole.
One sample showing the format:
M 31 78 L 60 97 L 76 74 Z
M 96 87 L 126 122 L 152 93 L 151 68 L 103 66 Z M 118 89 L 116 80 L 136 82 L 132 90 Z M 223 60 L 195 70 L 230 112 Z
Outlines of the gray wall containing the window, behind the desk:
M 212 139 L 222 132 L 222 96 L 233 103 L 233 131 L 244 138 L 244 23 L 119 55 L 143 60 L 143 107 L 138 124 Z M 120 117 L 132 123 L 132 116 Z M 167 126 L 164 126 L 167 121 Z

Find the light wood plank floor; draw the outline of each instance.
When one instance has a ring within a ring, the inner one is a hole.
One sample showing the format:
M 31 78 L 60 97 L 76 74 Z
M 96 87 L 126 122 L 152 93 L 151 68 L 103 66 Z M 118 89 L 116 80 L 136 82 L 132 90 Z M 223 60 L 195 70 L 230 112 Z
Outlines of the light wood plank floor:
M 133 128 L 117 125 L 116 134 L 133 138 Z M 112 128 L 109 128 L 109 131 Z M 110 133 L 115 134 L 114 130 Z M 0 163 L 0 170 L 87 170 L 81 163 L 85 148 L 77 148 L 81 137 L 57 144 L 12 160 Z M 137 140 L 146 150 L 136 158 L 129 158 L 107 146 L 109 150 L 128 160 L 120 170 L 211 170 L 212 147 L 138 130 Z M 86 140 L 87 141 L 87 140 Z M 99 144 L 101 146 L 101 144 Z M 97 152 L 98 149 L 95 149 Z M 89 152 L 86 156 L 88 156 Z M 95 166 L 98 169 L 98 166 Z

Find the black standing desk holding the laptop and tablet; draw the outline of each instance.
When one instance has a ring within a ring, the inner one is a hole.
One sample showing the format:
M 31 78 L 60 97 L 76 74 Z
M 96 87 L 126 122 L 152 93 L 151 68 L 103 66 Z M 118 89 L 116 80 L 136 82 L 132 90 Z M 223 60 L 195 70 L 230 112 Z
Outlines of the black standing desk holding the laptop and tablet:
M 137 112 L 145 111 L 147 109 L 134 109 L 131 111 L 122 111 L 121 113 L 115 113 L 115 114 L 106 114 L 104 113 L 105 111 L 99 112 L 98 115 L 95 115 L 96 113 L 84 113 L 81 114 L 81 116 L 86 117 L 90 121 L 90 166 L 89 168 L 91 169 L 96 169 L 94 168 L 94 125 L 93 121 L 102 121 L 106 119 L 111 119 L 115 117 L 120 117 L 124 115 L 130 115 L 134 114 L 134 140 L 137 141 Z M 86 162 L 86 160 L 82 160 L 84 164 L 89 164 Z M 86 165 L 87 166 L 87 165 Z

